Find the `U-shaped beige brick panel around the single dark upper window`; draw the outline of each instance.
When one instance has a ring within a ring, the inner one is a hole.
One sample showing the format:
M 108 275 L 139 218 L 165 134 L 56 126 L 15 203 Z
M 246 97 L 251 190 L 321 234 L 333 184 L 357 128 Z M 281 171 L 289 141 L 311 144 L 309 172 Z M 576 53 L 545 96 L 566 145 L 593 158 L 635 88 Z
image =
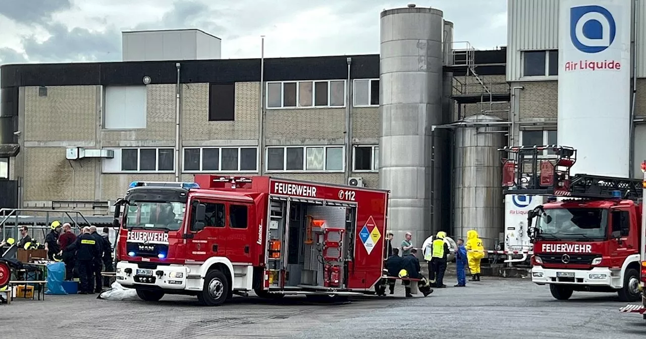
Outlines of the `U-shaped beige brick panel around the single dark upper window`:
M 185 140 L 258 139 L 258 83 L 236 83 L 235 121 L 209 121 L 209 84 L 183 85 Z

